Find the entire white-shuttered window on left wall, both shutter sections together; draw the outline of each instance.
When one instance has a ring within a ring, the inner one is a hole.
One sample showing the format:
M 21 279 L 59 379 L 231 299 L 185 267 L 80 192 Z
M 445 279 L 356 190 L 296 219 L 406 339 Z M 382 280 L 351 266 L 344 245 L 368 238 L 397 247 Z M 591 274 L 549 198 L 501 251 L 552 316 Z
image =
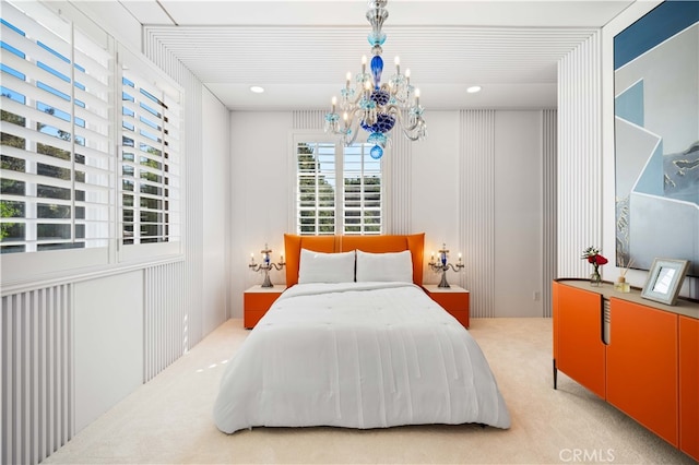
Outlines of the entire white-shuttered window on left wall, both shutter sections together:
M 0 23 L 3 271 L 181 253 L 181 88 L 40 2 L 3 1 Z M 27 253 L 56 249 L 79 250 Z

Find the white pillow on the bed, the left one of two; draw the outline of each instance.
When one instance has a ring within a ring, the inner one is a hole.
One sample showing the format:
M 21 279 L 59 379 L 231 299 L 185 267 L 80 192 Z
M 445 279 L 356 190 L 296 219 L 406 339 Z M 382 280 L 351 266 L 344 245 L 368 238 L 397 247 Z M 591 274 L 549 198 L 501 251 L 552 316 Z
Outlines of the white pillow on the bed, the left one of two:
M 354 250 L 323 253 L 301 249 L 299 261 L 298 284 L 354 282 Z

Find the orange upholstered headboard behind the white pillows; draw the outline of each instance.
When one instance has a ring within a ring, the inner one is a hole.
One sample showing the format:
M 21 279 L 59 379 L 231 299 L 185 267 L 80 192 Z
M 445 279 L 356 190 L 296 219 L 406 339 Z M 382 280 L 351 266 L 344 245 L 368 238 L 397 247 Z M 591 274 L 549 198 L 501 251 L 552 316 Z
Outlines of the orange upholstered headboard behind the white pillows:
M 413 259 L 413 283 L 423 285 L 423 255 L 425 233 L 404 236 L 297 236 L 284 235 L 286 257 L 286 287 L 298 283 L 298 265 L 301 249 L 336 253 L 351 250 L 365 252 L 402 252 L 410 250 Z

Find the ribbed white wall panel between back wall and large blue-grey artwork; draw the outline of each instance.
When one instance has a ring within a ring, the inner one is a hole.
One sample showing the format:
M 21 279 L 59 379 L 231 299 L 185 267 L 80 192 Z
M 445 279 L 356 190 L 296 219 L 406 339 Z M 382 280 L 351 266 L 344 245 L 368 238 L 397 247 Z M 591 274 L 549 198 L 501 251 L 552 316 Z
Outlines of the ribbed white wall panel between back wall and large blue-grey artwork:
M 582 251 L 602 247 L 601 55 L 596 32 L 558 63 L 559 277 L 585 277 L 590 265 Z

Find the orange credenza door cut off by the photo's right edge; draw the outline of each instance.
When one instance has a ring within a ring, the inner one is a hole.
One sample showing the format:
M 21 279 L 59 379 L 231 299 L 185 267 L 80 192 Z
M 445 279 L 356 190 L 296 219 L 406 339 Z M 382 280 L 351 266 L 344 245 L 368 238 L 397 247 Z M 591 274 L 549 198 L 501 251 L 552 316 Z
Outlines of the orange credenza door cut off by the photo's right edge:
M 699 320 L 679 317 L 679 449 L 699 461 Z

